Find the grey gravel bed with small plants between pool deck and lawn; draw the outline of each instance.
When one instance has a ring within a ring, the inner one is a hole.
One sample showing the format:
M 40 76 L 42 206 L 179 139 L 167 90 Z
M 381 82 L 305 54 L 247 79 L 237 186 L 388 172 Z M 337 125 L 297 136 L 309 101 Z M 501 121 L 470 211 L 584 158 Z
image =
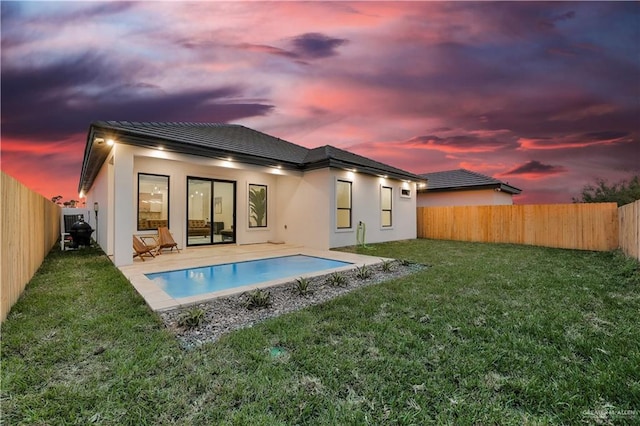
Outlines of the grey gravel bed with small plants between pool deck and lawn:
M 264 292 L 269 293 L 271 303 L 268 307 L 253 309 L 247 307 L 255 292 L 253 290 L 212 299 L 189 307 L 162 311 L 159 314 L 165 326 L 173 331 L 182 347 L 189 349 L 206 342 L 214 342 L 225 333 L 251 327 L 266 319 L 317 305 L 355 289 L 403 277 L 426 267 L 397 260 L 391 261 L 390 266 L 391 269 L 387 271 L 383 270 L 382 264 L 367 267 L 366 269 L 371 275 L 366 279 L 359 278 L 356 269 L 341 272 L 339 275 L 346 278 L 346 283 L 343 285 L 332 284 L 330 282 L 331 274 L 309 278 L 310 292 L 306 295 L 300 295 L 296 292 L 297 283 L 295 280 L 266 288 Z M 184 324 L 186 318 L 193 317 L 195 312 L 202 314 L 198 326 L 181 325 Z

